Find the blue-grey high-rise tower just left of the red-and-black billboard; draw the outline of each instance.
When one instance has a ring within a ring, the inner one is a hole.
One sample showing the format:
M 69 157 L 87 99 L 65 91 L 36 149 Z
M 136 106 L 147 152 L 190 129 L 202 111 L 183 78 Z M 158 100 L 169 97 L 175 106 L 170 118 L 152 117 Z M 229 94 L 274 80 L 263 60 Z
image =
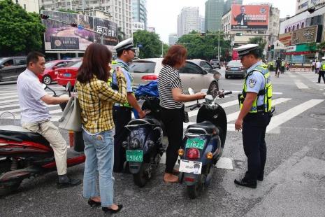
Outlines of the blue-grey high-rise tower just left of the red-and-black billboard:
M 205 24 L 206 31 L 216 32 L 222 29 L 222 15 L 224 14 L 224 0 L 205 1 Z

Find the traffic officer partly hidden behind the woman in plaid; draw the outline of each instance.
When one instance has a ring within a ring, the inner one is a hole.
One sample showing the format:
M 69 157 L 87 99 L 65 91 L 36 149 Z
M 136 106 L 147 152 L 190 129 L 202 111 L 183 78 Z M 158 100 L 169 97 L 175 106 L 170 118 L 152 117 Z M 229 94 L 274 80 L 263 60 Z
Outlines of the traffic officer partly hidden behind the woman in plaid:
M 128 63 L 134 58 L 133 38 L 121 41 L 114 49 L 117 52 L 117 59 L 113 64 L 113 69 L 120 67 L 124 73 L 124 77 L 127 80 L 127 104 L 115 104 L 113 107 L 113 119 L 115 125 L 114 136 L 114 172 L 122 172 L 125 158 L 125 151 L 122 148 L 122 142 L 127 138 L 127 130 L 124 126 L 131 120 L 132 108 L 136 109 L 140 118 L 145 117 L 145 113 L 142 111 L 136 97 L 134 97 L 132 85 L 133 78 L 129 73 Z M 112 87 L 117 86 L 117 79 L 115 73 L 113 73 Z

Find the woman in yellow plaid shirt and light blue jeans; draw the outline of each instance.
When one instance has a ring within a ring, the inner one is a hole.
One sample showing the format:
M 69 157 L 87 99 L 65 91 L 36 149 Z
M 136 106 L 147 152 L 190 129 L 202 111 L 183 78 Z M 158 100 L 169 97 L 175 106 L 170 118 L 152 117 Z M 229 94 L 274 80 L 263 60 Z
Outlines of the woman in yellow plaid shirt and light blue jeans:
M 81 107 L 82 137 L 85 141 L 83 196 L 91 207 L 101 206 L 103 211 L 115 213 L 122 209 L 122 205 L 113 203 L 112 113 L 115 102 L 127 102 L 127 89 L 120 69 L 117 69 L 118 92 L 108 85 L 111 59 L 112 53 L 105 45 L 89 45 L 78 70 L 75 88 Z M 96 170 L 99 171 L 99 193 L 96 190 Z

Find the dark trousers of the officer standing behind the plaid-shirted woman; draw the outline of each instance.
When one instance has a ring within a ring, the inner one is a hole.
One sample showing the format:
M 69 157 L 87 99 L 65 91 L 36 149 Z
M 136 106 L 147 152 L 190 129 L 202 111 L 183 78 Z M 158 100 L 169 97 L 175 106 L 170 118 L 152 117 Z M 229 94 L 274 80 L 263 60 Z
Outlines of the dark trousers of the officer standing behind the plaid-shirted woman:
M 114 135 L 114 167 L 113 172 L 122 172 L 126 161 L 125 150 L 122 142 L 127 139 L 128 131 L 124 128 L 131 120 L 132 109 L 124 106 L 113 107 L 113 120 L 115 125 Z

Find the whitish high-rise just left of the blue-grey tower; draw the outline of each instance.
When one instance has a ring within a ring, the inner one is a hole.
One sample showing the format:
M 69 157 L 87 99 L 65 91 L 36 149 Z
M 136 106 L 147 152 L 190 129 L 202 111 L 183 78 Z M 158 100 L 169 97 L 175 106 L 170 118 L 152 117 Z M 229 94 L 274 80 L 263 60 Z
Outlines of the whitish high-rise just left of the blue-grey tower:
M 198 7 L 182 8 L 178 15 L 177 35 L 180 38 L 191 31 L 198 31 L 200 26 L 200 15 Z

